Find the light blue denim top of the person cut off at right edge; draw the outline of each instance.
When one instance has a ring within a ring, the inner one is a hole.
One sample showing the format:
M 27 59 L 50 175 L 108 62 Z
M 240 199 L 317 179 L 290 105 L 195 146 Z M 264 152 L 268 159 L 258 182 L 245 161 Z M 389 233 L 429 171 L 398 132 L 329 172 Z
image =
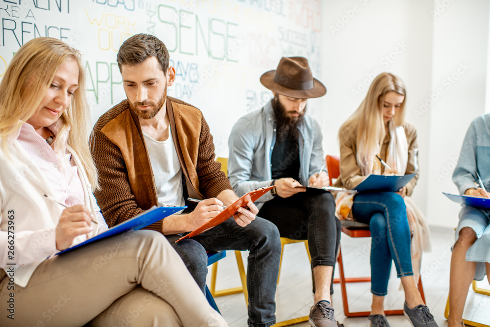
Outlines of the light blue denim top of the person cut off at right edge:
M 490 114 L 477 117 L 468 128 L 460 157 L 453 173 L 453 182 L 461 195 L 477 188 L 476 171 L 487 190 L 490 189 Z

